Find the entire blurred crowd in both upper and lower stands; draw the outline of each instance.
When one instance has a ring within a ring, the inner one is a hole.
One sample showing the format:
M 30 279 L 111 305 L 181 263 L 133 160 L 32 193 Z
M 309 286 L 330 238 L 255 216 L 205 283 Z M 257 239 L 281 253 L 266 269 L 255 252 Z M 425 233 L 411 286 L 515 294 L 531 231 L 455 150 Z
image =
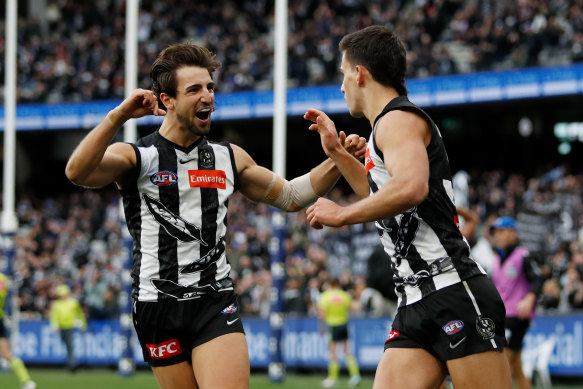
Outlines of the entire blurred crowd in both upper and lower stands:
M 42 6 L 19 20 L 19 102 L 123 98 L 125 2 L 35 4 Z M 150 87 L 149 67 L 160 50 L 190 40 L 221 60 L 219 92 L 271 89 L 273 6 L 266 0 L 142 0 L 139 86 Z M 290 87 L 340 85 L 339 40 L 371 24 L 387 25 L 403 39 L 409 78 L 583 60 L 582 0 L 289 0 L 289 7 Z M 498 216 L 516 218 L 519 239 L 537 254 L 546 280 L 539 310 L 568 312 L 583 308 L 583 176 L 563 166 L 547 170 L 537 177 L 460 172 L 454 184 L 458 204 L 479 216 L 468 237 L 474 257 L 488 269 L 489 224 Z M 354 201 L 342 190 L 329 196 Z M 61 283 L 71 286 L 89 318 L 118 316 L 127 259 L 118 203 L 112 189 L 19 195 L 15 274 L 25 318 L 47 318 Z M 266 317 L 271 209 L 240 195 L 229 206 L 228 257 L 241 305 L 246 314 Z M 288 313 L 315 315 L 318 296 L 334 277 L 360 314 L 393 314 L 389 260 L 373 224 L 314 230 L 300 212 L 287 215 L 286 227 Z

